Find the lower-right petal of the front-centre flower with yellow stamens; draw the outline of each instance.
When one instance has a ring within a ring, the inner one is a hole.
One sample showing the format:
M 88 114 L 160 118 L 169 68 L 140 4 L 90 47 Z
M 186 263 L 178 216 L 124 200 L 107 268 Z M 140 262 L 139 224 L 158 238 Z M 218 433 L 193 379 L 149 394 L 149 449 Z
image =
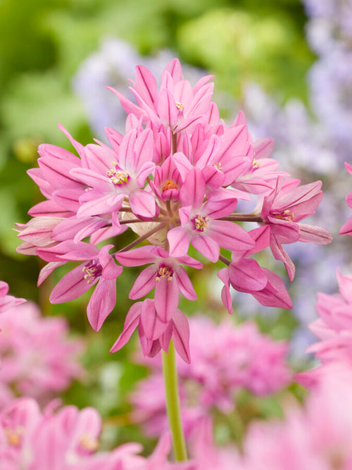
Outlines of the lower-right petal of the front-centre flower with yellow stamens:
M 230 221 L 212 221 L 208 234 L 227 249 L 251 249 L 255 245 L 244 228 Z

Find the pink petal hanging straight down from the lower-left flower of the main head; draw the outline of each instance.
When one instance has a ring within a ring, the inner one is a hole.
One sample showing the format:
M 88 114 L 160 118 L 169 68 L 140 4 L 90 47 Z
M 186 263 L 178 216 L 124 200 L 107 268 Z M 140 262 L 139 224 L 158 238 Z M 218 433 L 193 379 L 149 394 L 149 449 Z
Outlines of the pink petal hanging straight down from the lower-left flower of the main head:
M 100 278 L 87 306 L 87 316 L 92 328 L 100 330 L 116 304 L 116 280 Z

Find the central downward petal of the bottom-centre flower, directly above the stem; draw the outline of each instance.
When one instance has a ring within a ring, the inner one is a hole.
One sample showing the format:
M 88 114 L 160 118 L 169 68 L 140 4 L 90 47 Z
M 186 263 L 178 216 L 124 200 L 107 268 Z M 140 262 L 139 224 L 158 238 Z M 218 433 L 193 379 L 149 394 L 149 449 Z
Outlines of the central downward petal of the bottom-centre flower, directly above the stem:
M 178 306 L 179 290 L 174 279 L 161 278 L 155 287 L 154 295 L 155 309 L 159 319 L 168 323 Z

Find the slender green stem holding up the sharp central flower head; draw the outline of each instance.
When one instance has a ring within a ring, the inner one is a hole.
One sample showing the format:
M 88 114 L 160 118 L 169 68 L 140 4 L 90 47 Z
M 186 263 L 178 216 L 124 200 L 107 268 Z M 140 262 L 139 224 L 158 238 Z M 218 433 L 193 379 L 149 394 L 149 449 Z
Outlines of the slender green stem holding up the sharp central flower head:
M 165 384 L 166 411 L 172 435 L 172 448 L 175 461 L 182 462 L 188 459 L 186 441 L 181 421 L 180 397 L 178 395 L 177 369 L 175 346 L 170 341 L 168 354 L 163 352 L 163 375 Z

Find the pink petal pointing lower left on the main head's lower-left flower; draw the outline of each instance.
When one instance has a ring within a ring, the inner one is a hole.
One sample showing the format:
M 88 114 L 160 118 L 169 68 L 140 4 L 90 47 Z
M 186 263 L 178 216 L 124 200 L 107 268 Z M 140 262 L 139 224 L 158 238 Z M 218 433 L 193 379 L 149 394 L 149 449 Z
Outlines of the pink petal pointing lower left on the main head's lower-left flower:
M 84 279 L 84 272 L 82 271 L 84 266 L 86 264 L 80 264 L 58 281 L 49 297 L 51 304 L 62 304 L 77 299 L 96 283 L 97 278 L 91 284 L 88 284 L 87 280 Z

